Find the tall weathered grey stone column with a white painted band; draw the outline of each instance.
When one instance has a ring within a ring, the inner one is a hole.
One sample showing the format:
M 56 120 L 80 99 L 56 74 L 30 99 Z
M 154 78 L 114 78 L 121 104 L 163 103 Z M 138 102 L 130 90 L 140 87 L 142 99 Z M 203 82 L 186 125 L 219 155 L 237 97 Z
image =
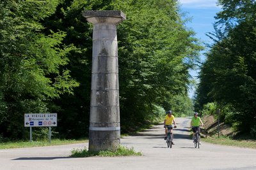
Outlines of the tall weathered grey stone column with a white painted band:
M 84 11 L 93 24 L 89 150 L 115 151 L 120 144 L 118 48 L 116 24 L 122 11 Z

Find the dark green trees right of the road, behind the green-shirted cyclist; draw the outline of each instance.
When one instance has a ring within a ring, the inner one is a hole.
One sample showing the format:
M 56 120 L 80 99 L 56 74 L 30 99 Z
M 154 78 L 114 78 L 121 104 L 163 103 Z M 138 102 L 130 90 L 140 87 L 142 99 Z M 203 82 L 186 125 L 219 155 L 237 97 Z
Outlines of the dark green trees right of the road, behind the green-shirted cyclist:
M 216 43 L 202 65 L 196 103 L 216 102 L 224 119 L 248 133 L 256 123 L 255 1 L 219 1 Z

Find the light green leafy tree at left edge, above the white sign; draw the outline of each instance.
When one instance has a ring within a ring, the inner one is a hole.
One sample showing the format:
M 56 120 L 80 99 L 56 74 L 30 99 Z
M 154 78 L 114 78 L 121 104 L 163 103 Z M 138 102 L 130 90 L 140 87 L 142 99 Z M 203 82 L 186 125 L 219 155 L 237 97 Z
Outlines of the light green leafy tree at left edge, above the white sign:
M 0 3 L 0 129 L 7 138 L 24 138 L 24 113 L 49 111 L 48 101 L 72 94 L 78 83 L 65 69 L 72 46 L 61 46 L 64 32 L 45 36 L 40 20 L 58 1 Z M 62 67 L 63 69 L 59 69 Z

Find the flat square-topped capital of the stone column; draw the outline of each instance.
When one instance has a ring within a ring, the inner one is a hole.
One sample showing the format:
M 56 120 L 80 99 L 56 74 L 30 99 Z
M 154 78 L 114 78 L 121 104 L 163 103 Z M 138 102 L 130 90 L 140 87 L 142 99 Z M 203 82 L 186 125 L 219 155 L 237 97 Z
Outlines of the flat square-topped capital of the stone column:
M 109 23 L 118 24 L 126 19 L 125 14 L 122 11 L 83 11 L 83 17 L 92 24 Z

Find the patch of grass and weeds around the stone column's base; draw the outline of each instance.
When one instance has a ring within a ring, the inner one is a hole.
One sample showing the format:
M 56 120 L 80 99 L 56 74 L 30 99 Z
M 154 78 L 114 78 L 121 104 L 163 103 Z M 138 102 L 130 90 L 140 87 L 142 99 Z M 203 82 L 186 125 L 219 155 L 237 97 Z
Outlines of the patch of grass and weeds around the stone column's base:
M 120 156 L 141 156 L 141 152 L 135 152 L 133 148 L 127 148 L 125 146 L 118 146 L 116 152 L 111 151 L 100 151 L 100 152 L 90 152 L 87 148 L 84 149 L 74 149 L 71 152 L 71 157 L 120 157 Z

